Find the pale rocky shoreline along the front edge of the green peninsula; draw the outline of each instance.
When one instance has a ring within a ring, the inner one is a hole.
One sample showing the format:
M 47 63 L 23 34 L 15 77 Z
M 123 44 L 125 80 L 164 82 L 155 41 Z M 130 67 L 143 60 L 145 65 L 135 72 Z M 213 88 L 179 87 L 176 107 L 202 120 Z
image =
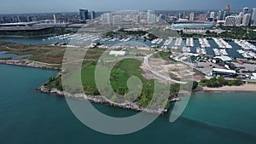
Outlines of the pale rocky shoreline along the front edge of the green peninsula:
M 129 101 L 125 101 L 124 103 L 116 103 L 113 101 L 109 101 L 106 97 L 104 97 L 102 95 L 85 95 L 85 94 L 72 95 L 72 94 L 63 92 L 58 89 L 45 88 L 44 85 L 39 87 L 37 90 L 44 94 L 60 95 L 60 96 L 65 96 L 67 98 L 83 100 L 83 101 L 90 101 L 90 102 L 94 102 L 94 103 L 108 105 L 111 107 L 119 107 L 119 108 L 129 109 L 129 110 L 133 110 L 133 111 L 137 111 L 137 112 L 147 112 L 147 113 L 161 114 L 161 115 L 166 114 L 168 112 L 167 109 L 152 110 L 152 109 L 148 109 L 148 108 L 144 108 L 144 107 L 139 107 L 139 106 L 137 106 L 136 103 L 132 103 Z

